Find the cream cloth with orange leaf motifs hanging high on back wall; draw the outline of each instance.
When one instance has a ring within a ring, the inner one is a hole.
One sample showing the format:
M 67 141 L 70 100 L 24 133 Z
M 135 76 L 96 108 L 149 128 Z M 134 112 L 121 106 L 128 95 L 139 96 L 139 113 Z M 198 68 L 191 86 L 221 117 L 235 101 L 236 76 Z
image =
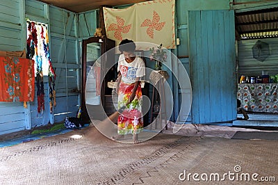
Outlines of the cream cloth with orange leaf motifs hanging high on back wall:
M 176 48 L 174 0 L 136 3 L 129 8 L 104 7 L 107 38 L 119 45 L 124 38 L 134 42 L 152 42 L 167 49 Z M 149 50 L 149 48 L 136 48 Z

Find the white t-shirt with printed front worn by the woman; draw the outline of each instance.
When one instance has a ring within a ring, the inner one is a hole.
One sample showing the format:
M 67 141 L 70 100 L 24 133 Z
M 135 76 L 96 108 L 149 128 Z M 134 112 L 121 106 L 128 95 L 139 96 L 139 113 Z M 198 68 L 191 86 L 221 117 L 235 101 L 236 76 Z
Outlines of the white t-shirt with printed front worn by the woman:
M 127 63 L 124 54 L 121 54 L 118 60 L 117 71 L 120 71 L 122 74 L 122 82 L 135 83 L 137 77 L 145 76 L 145 63 L 138 56 L 131 63 Z

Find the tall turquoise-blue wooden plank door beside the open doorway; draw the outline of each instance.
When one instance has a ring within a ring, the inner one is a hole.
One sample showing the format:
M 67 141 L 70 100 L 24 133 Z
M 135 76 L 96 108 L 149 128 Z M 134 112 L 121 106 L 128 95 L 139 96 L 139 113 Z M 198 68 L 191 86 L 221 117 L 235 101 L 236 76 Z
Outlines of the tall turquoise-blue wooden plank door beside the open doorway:
M 188 11 L 192 123 L 236 120 L 234 10 Z

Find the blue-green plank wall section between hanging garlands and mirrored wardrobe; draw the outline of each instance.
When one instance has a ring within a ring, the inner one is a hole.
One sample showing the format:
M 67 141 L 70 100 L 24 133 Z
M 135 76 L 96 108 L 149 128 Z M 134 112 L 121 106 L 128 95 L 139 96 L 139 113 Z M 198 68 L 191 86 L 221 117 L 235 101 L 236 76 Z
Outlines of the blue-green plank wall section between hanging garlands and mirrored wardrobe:
M 80 105 L 81 52 L 78 15 L 50 6 L 52 63 L 56 68 L 56 101 L 54 121 L 75 117 Z

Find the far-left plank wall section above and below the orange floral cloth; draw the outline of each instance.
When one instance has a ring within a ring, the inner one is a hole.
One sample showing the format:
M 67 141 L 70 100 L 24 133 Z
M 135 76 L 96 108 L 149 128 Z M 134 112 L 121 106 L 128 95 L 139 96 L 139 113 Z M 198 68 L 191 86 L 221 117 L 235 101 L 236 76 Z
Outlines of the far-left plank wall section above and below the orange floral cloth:
M 1 1 L 0 4 L 0 50 L 18 51 L 22 48 L 22 25 L 19 0 Z M 22 102 L 0 102 L 0 135 L 25 129 Z

